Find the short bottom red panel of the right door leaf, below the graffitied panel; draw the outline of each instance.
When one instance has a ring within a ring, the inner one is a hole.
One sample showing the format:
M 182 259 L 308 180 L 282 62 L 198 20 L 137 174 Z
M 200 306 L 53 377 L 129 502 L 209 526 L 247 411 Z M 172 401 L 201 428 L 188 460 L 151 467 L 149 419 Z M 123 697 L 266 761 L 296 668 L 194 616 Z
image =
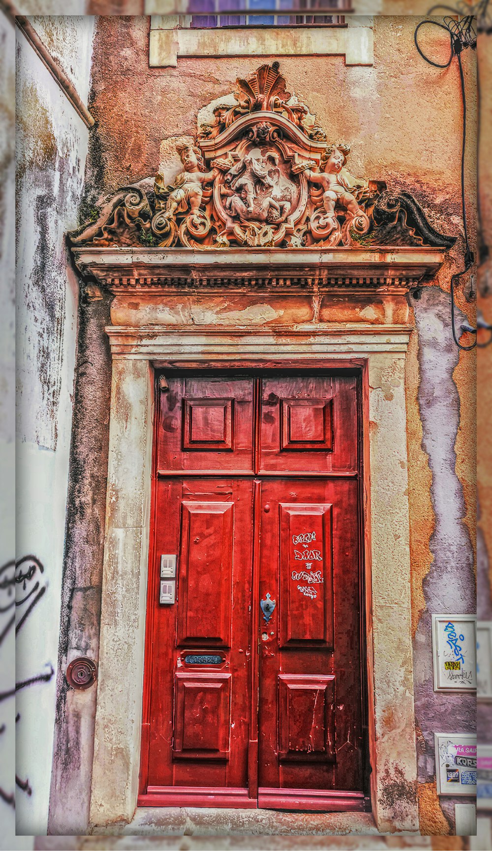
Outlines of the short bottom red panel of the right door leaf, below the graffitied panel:
M 335 762 L 335 677 L 280 674 L 278 757 Z

